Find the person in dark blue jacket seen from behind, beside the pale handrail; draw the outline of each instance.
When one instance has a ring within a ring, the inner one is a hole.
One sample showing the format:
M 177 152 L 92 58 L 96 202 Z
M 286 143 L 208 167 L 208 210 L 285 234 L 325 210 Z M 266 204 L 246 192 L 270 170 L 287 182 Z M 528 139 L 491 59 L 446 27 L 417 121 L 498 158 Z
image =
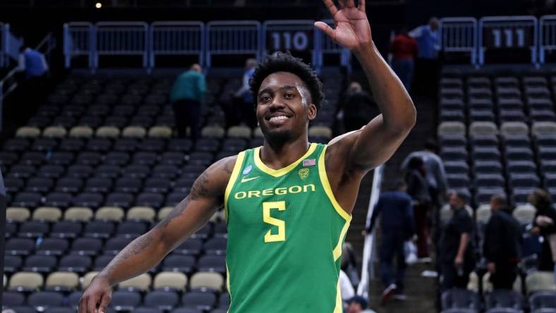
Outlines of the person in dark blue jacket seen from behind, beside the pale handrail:
M 402 180 L 397 181 L 391 191 L 380 195 L 367 232 L 373 231 L 377 216 L 380 216 L 380 276 L 385 290 L 382 293 L 382 302 L 389 299 L 392 294 L 402 298 L 404 294 L 404 277 L 406 260 L 404 243 L 415 233 L 413 221 L 413 207 L 411 197 L 406 193 L 407 185 Z M 392 271 L 394 256 L 397 259 L 396 275 Z

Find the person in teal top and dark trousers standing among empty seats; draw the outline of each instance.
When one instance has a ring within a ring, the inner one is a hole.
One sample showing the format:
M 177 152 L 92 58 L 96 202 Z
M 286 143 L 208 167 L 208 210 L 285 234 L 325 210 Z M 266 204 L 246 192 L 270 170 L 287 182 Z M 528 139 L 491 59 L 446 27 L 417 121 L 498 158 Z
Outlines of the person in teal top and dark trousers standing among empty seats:
M 176 78 L 170 92 L 170 102 L 174 107 L 179 137 L 186 137 L 187 127 L 191 128 L 193 140 L 200 136 L 201 104 L 207 91 L 206 86 L 203 68 L 199 64 L 193 64 L 189 70 Z

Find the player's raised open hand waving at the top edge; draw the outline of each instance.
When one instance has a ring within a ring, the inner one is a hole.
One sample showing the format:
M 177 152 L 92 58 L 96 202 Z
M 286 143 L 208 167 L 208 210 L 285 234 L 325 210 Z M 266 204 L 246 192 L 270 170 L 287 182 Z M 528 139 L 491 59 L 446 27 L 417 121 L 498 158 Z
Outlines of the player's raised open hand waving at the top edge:
M 332 14 L 336 26 L 332 29 L 324 22 L 316 22 L 315 27 L 325 32 L 337 44 L 350 50 L 371 42 L 365 0 L 359 0 L 359 6 L 355 6 L 354 0 L 338 0 L 339 10 L 332 0 L 322 2 Z

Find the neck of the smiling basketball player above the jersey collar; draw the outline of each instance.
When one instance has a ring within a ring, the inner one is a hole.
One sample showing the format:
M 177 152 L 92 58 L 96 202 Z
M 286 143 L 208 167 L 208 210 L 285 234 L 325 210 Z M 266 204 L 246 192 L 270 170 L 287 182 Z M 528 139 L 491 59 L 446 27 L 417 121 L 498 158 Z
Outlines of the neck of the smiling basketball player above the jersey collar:
M 260 149 L 260 160 L 273 169 L 284 168 L 297 161 L 309 149 L 307 137 L 282 145 L 270 145 L 266 140 Z

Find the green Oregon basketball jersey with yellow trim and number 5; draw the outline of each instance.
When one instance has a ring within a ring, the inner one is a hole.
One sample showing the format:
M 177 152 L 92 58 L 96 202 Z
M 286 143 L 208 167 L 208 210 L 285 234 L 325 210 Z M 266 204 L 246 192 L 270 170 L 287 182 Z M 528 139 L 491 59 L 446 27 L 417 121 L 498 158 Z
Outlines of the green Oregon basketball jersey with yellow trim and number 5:
M 325 145 L 274 170 L 260 147 L 238 154 L 226 187 L 229 313 L 339 313 L 351 216 L 332 195 Z

